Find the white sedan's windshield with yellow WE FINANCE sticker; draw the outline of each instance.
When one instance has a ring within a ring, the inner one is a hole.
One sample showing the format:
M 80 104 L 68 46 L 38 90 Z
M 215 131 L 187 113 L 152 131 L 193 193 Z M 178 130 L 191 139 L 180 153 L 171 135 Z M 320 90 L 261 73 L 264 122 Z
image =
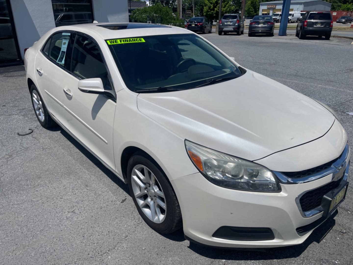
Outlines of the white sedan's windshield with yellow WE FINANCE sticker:
M 132 91 L 184 90 L 241 76 L 225 55 L 195 34 L 106 40 L 126 86 Z M 164 92 L 164 91 L 162 91 Z

